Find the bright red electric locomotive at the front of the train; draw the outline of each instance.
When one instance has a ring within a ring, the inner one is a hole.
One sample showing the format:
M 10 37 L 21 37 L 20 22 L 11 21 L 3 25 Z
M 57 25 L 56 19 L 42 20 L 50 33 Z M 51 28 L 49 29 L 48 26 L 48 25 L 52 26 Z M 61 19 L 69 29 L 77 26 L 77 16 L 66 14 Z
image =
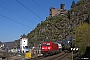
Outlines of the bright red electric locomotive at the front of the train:
M 52 55 L 59 52 L 58 44 L 53 42 L 42 42 L 41 52 L 43 55 Z

